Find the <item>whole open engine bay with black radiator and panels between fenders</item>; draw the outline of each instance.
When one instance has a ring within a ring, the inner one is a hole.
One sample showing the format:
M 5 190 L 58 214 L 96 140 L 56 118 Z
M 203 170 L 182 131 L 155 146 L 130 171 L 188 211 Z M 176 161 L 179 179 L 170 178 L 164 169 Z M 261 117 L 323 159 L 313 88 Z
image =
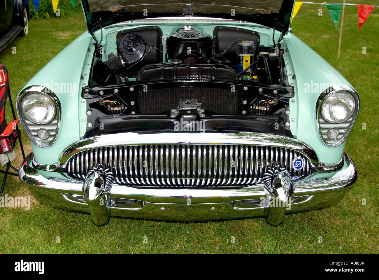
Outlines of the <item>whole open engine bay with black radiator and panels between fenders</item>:
M 158 26 L 117 31 L 108 53 L 97 41 L 89 87 L 83 88 L 91 136 L 170 131 L 179 119 L 202 120 L 207 131 L 292 136 L 287 112 L 294 91 L 282 46 L 260 45 L 259 33 L 244 28 L 216 26 L 213 36 L 190 26 L 174 31 L 166 36 Z M 108 132 L 99 130 L 104 122 L 112 124 Z

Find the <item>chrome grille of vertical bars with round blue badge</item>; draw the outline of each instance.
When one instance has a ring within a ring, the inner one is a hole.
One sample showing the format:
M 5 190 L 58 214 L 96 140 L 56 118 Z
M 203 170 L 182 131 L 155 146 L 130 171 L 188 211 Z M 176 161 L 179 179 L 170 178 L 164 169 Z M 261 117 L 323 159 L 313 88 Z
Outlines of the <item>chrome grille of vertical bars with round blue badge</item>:
M 293 170 L 292 159 L 302 157 L 304 167 Z M 136 186 L 245 186 L 262 181 L 276 164 L 293 176 L 311 173 L 304 154 L 260 145 L 133 145 L 81 151 L 67 160 L 69 176 L 83 180 L 102 163 L 114 173 L 116 183 Z

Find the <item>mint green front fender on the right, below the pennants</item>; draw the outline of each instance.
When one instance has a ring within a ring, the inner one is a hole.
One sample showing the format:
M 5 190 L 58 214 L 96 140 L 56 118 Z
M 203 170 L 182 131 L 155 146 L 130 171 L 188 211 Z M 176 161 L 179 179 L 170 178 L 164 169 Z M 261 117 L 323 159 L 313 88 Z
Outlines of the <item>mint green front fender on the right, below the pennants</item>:
M 325 164 L 341 160 L 346 140 L 341 145 L 324 145 L 318 131 L 316 102 L 320 94 L 331 85 L 351 84 L 327 61 L 292 33 L 283 38 L 288 48 L 286 63 L 289 82 L 295 87 L 295 97 L 290 102 L 291 131 L 298 140 L 307 143 Z M 288 55 L 289 53 L 289 55 Z

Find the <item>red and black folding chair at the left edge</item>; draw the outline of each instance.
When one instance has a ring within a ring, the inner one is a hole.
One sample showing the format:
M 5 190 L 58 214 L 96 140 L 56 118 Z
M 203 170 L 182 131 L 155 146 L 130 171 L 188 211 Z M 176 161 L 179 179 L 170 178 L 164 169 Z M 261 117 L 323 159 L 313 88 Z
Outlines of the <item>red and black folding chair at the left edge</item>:
M 13 114 L 13 121 L 9 124 L 5 120 L 5 105 L 6 98 L 9 98 L 9 104 L 11 105 L 11 110 Z M 0 157 L 2 165 L 6 164 L 6 170 L 0 170 L 1 173 L 5 173 L 2 186 L 0 189 L 0 197 L 3 193 L 6 177 L 9 175 L 19 176 L 19 170 L 11 165 L 11 161 L 16 157 L 14 153 L 14 146 L 16 145 L 16 140 L 20 142 L 20 148 L 23 158 L 25 159 L 25 153 L 23 151 L 21 142 L 21 131 L 18 128 L 19 119 L 16 119 L 16 114 L 14 113 L 11 91 L 9 89 L 9 77 L 8 71 L 6 70 L 3 63 L 0 62 Z M 9 172 L 9 168 L 16 171 L 16 173 Z

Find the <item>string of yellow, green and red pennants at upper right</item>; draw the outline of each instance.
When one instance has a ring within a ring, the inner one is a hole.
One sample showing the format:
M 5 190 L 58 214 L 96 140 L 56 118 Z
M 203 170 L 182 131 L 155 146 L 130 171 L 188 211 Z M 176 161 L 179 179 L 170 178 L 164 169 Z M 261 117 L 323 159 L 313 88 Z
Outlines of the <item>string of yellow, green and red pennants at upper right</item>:
M 292 22 L 293 18 L 296 16 L 296 14 L 298 13 L 298 11 L 299 11 L 299 9 L 300 9 L 300 7 L 301 7 L 301 5 L 303 3 L 305 3 L 305 4 L 325 5 L 328 8 L 330 17 L 332 18 L 332 20 L 333 20 L 334 25 L 335 25 L 336 28 L 337 28 L 338 22 L 340 21 L 340 14 L 341 14 L 341 11 L 343 9 L 343 5 L 357 6 L 357 8 L 358 8 L 358 18 L 359 18 L 359 29 L 362 28 L 362 25 L 366 22 L 366 20 L 370 16 L 371 12 L 373 11 L 373 9 L 375 7 L 379 7 L 379 6 L 373 6 L 373 5 L 362 5 L 362 4 L 351 4 L 351 3 L 328 4 L 326 2 L 324 2 L 324 3 L 315 3 L 315 2 L 304 2 L 304 1 L 300 2 L 300 1 L 296 1 L 295 5 L 294 5 L 294 8 L 293 8 L 291 22 Z

